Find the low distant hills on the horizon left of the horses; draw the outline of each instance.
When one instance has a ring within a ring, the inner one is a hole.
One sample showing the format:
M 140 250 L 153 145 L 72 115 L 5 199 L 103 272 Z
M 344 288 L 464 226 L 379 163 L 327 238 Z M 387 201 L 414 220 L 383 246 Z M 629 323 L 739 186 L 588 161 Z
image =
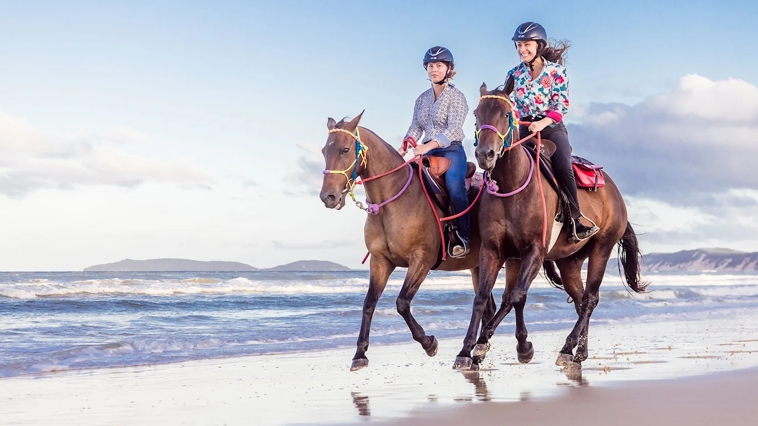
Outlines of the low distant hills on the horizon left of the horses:
M 189 259 L 124 259 L 114 263 L 89 266 L 84 272 L 224 272 L 224 271 L 351 271 L 347 266 L 326 260 L 299 260 L 268 269 L 258 269 L 247 263 Z

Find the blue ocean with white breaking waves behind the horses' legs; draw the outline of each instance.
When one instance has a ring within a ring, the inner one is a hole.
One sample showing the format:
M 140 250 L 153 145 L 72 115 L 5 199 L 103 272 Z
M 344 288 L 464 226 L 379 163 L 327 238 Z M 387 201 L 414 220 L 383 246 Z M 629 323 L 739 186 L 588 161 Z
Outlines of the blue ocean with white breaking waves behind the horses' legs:
M 412 341 L 395 309 L 404 275 L 390 278 L 371 345 Z M 726 319 L 758 307 L 755 273 L 646 279 L 650 292 L 631 294 L 606 276 L 592 324 Z M 367 287 L 367 271 L 2 272 L 0 377 L 354 347 Z M 503 287 L 501 275 L 498 302 Z M 468 271 L 431 272 L 412 313 L 427 334 L 462 338 L 473 297 Z M 556 331 L 576 314 L 564 292 L 537 278 L 525 317 L 530 331 Z M 511 315 L 497 334 L 513 331 Z

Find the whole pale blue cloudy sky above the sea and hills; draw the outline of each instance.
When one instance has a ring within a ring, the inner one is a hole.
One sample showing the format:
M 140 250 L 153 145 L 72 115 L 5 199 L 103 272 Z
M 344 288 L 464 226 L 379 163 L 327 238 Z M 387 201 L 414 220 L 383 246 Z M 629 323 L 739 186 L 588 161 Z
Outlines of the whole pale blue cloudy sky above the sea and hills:
M 758 5 L 616 3 L 0 0 L 0 270 L 359 267 L 365 213 L 318 199 L 327 117 L 399 144 L 433 45 L 473 110 L 528 20 L 571 41 L 572 145 L 643 250 L 758 251 Z

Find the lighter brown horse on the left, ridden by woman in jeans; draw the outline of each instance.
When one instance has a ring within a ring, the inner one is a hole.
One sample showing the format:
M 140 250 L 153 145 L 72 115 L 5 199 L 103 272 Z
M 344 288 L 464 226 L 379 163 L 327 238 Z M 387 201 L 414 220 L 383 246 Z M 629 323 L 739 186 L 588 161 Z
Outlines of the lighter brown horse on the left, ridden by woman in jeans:
M 340 123 L 332 118 L 327 120 L 327 128 L 331 132 L 324 149 L 321 150 L 326 161 L 326 169 L 346 170 L 345 174 L 324 173 L 321 201 L 327 208 L 339 209 L 345 204 L 347 189 L 352 183 L 349 173 L 355 171 L 357 176 L 366 179 L 387 173 L 404 163 L 400 154 L 387 142 L 371 130 L 358 127 L 362 115 L 363 113 L 351 121 L 342 120 Z M 356 145 L 359 145 L 356 143 L 356 129 L 359 129 L 360 143 L 368 148 L 365 151 L 365 161 L 359 158 L 359 153 L 356 152 Z M 441 244 L 437 219 L 421 188 L 418 173 L 413 173 L 412 170 L 414 169 L 411 166 L 403 167 L 395 173 L 364 184 L 366 196 L 376 204 L 395 197 L 404 185 L 407 185 L 407 188 L 401 196 L 381 207 L 376 215 L 369 214 L 366 218 L 364 237 L 368 252 L 371 253 L 370 273 L 368 291 L 363 302 L 358 350 L 350 368 L 352 371 L 368 365 L 365 353 L 368 349 L 371 317 L 390 274 L 398 266 L 408 268 L 408 272 L 397 297 L 397 312 L 406 320 L 414 340 L 421 344 L 426 353 L 429 356 L 437 354 L 437 339 L 427 336 L 424 328 L 418 325 L 411 314 L 411 300 L 428 272 L 437 263 Z M 449 258 L 438 268 L 443 271 L 471 269 L 475 291 L 478 289 L 480 245 L 477 212 L 476 206 L 471 208 L 471 252 L 461 259 Z M 441 210 L 438 210 L 438 214 L 442 215 Z M 491 293 L 485 306 L 483 312 L 486 310 L 485 314 L 492 318 L 496 305 Z

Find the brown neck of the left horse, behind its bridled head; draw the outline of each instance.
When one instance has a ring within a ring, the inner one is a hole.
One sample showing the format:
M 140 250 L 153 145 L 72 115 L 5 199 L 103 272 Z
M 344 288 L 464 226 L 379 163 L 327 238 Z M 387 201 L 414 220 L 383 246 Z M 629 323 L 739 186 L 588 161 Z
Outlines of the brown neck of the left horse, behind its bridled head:
M 362 131 L 361 140 L 368 147 L 368 154 L 366 155 L 367 164 L 365 169 L 363 169 L 363 173 L 361 173 L 361 179 L 387 173 L 405 163 L 400 154 L 387 142 L 375 135 L 374 132 L 364 128 L 360 129 Z M 384 198 L 396 194 L 406 182 L 408 182 L 408 171 L 401 169 L 390 175 L 383 176 L 381 179 L 368 181 L 364 186 L 368 199 L 372 203 L 378 203 Z

